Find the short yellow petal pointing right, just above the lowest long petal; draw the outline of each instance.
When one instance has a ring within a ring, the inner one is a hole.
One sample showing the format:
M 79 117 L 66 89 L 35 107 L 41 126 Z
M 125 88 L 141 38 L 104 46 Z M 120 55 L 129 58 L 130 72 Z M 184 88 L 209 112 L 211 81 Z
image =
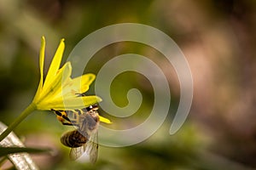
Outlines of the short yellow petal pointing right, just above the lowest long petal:
M 73 90 L 82 94 L 89 89 L 90 84 L 95 80 L 94 74 L 84 74 L 82 77 L 76 77 L 72 80 Z

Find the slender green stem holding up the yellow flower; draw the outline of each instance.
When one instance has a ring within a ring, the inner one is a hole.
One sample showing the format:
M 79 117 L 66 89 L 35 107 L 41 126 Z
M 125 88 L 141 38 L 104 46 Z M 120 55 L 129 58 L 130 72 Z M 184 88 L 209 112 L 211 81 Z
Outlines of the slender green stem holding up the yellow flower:
M 26 118 L 26 116 L 28 116 L 29 114 L 31 114 L 32 111 L 35 111 L 36 108 L 37 108 L 37 105 L 35 105 L 35 104 L 33 104 L 33 103 L 30 104 L 30 105 L 28 105 L 28 106 L 26 107 L 26 110 L 23 111 L 23 112 L 20 114 L 20 116 L 18 116 L 18 118 L 15 119 L 14 122 L 12 122 L 12 123 L 9 125 L 9 127 L 7 127 L 7 129 L 5 129 L 5 131 L 4 131 L 3 133 L 1 133 L 1 135 L 0 135 L 0 142 L 1 142 L 3 139 L 5 139 L 5 137 L 7 137 L 7 136 L 9 135 L 9 133 L 11 133 L 11 132 L 14 130 L 14 128 L 17 127 L 17 126 L 20 124 L 20 122 L 22 122 L 22 121 Z

